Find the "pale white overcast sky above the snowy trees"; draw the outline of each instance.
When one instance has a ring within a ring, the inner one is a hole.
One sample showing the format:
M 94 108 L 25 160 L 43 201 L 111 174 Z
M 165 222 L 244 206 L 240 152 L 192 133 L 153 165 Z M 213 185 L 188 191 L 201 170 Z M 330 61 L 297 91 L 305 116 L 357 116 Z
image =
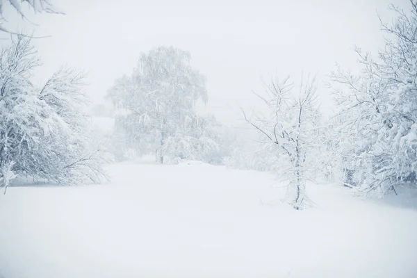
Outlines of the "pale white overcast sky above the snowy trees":
M 252 103 L 261 76 L 354 67 L 354 44 L 375 51 L 382 43 L 377 10 L 391 21 L 389 3 L 408 8 L 407 0 L 51 1 L 66 15 L 28 13 L 39 26 L 6 10 L 9 28 L 51 35 L 34 40 L 44 63 L 39 80 L 70 64 L 88 72 L 88 93 L 102 101 L 141 51 L 173 45 L 190 51 L 208 79 L 206 110 L 227 124 L 241 117 L 239 105 Z M 329 109 L 327 92 L 321 97 Z

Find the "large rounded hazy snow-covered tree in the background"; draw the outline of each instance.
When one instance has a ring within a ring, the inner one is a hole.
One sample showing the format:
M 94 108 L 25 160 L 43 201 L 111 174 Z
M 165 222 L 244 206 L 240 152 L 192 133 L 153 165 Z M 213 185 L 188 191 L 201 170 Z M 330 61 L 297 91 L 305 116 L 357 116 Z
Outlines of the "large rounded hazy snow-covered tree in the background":
M 202 141 L 204 134 L 193 134 L 205 124 L 195 105 L 198 100 L 206 103 L 207 92 L 204 76 L 191 67 L 187 51 L 156 47 L 142 54 L 131 76 L 117 79 L 108 97 L 118 108 L 116 125 L 131 145 L 154 151 L 159 163 L 166 155 L 189 156 L 193 148 L 205 152 L 215 147 Z

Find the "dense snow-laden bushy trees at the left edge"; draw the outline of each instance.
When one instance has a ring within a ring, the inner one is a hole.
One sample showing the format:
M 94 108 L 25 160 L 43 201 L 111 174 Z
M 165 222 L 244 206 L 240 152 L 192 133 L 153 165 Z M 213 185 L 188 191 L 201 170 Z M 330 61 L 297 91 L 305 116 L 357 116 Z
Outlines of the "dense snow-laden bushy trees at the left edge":
M 105 177 L 90 146 L 83 75 L 62 69 L 38 88 L 31 74 L 40 62 L 22 36 L 0 58 L 0 169 L 64 184 Z

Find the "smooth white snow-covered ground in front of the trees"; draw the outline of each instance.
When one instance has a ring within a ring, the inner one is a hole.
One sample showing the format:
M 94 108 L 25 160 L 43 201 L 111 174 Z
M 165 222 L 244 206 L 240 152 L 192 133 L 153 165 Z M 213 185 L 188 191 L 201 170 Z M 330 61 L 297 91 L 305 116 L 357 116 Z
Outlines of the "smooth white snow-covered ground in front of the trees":
M 0 196 L 0 277 L 417 277 L 417 210 L 261 172 L 120 163 L 111 183 Z M 411 200 L 412 202 L 412 200 Z

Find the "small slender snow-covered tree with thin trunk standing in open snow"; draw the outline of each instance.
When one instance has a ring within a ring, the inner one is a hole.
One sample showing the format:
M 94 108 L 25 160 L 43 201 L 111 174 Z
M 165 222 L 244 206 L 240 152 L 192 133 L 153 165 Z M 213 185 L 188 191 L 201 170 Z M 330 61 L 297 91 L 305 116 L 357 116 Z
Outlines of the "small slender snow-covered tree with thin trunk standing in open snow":
M 275 146 L 281 167 L 289 181 L 288 202 L 297 210 L 309 206 L 305 183 L 309 179 L 309 167 L 316 147 L 320 114 L 316 105 L 316 81 L 300 81 L 298 92 L 293 92 L 289 79 L 267 84 L 264 95 L 257 95 L 264 108 L 245 120 L 261 134 L 265 142 Z

